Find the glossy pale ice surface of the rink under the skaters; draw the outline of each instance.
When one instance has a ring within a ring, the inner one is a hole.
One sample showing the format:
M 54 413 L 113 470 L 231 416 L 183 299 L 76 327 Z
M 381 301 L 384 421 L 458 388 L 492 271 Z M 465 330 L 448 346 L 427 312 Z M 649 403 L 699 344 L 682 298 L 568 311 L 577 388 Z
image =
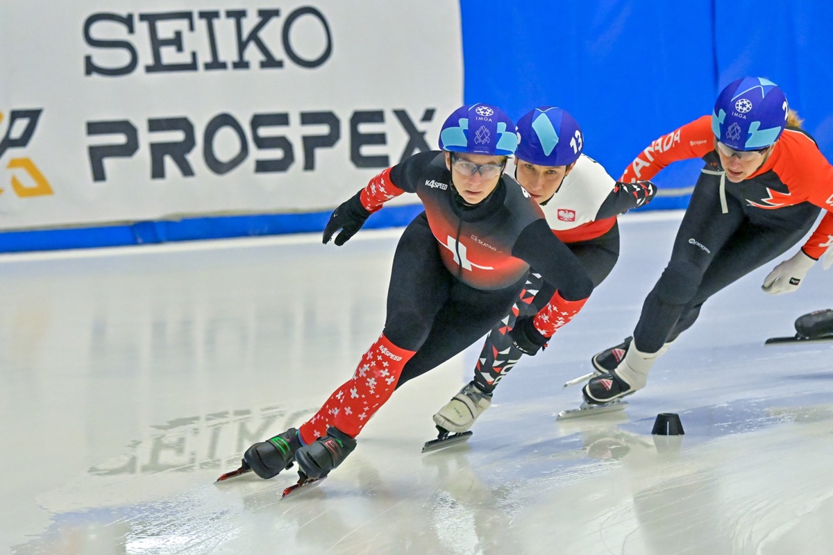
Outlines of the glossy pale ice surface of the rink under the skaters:
M 399 230 L 0 256 L 0 553 L 833 553 L 833 343 L 763 345 L 833 308 L 833 270 L 777 297 L 757 270 L 625 411 L 556 421 L 580 402 L 561 384 L 631 333 L 679 218 L 621 219 L 619 265 L 468 444 L 420 453 L 480 344 L 287 499 L 292 470 L 213 482 L 352 374 Z M 661 412 L 681 442 L 651 435 Z

